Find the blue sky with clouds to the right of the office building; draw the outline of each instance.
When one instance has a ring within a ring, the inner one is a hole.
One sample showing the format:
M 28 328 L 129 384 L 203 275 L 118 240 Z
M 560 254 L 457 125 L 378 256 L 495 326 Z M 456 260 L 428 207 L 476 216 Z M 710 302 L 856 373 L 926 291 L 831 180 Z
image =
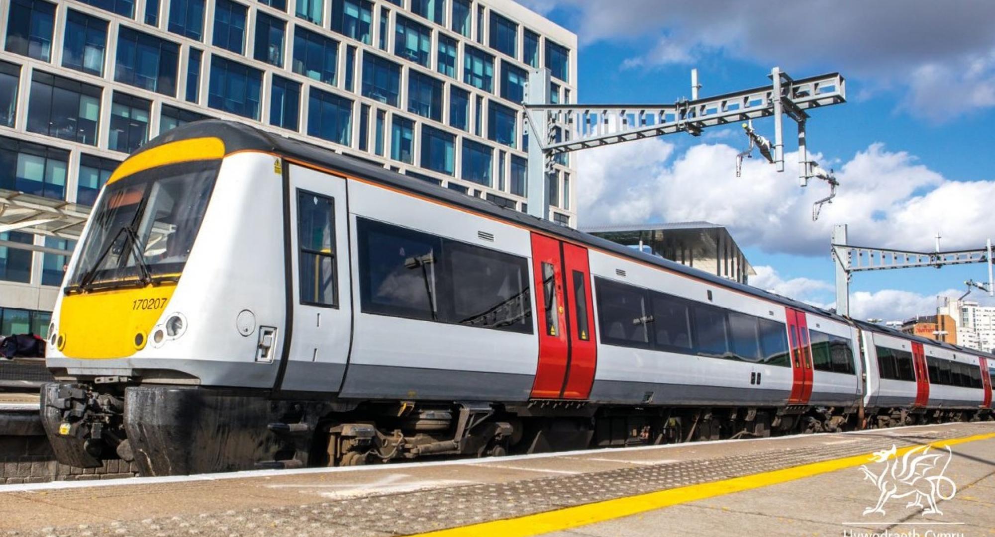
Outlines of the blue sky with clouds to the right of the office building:
M 995 236 L 995 2 L 523 3 L 578 34 L 584 103 L 673 102 L 690 96 L 693 67 L 702 95 L 768 84 L 775 65 L 796 78 L 847 79 L 848 102 L 815 110 L 808 125 L 810 152 L 841 181 L 818 223 L 811 202 L 827 187 L 797 187 L 793 154 L 784 173 L 754 158 L 736 179 L 733 155 L 746 140 L 730 127 L 578 154 L 582 226 L 723 224 L 758 267 L 756 284 L 820 305 L 834 300 L 833 224 L 848 223 L 854 244 L 918 250 L 937 232 L 944 249 Z M 770 119 L 755 126 L 773 137 Z M 785 151 L 794 151 L 794 124 L 785 127 Z M 987 269 L 857 274 L 853 311 L 929 313 L 936 294 L 961 294 L 967 278 L 984 280 Z

